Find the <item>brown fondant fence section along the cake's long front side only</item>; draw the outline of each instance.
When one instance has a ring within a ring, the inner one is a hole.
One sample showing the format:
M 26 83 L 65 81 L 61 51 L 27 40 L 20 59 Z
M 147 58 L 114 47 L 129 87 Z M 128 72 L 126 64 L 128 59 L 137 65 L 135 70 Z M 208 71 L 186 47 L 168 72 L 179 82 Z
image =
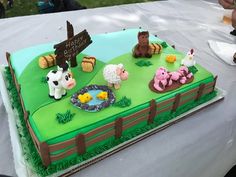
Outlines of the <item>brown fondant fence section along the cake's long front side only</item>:
M 120 138 L 124 131 L 129 130 L 131 127 L 140 123 L 146 122 L 147 124 L 153 123 L 154 118 L 158 117 L 164 112 L 175 112 L 178 107 L 190 101 L 197 101 L 201 96 L 214 91 L 215 82 L 208 84 L 201 84 L 199 87 L 189 90 L 188 92 L 177 94 L 175 97 L 168 100 L 156 103 L 155 100 L 150 101 L 150 106 L 140 110 L 131 115 L 117 118 L 114 122 L 98 127 L 85 134 L 79 134 L 75 138 L 67 140 L 62 143 L 49 145 L 49 153 L 51 161 L 57 161 L 68 157 L 72 154 L 84 154 L 86 149 L 95 143 L 101 142 L 107 138 L 114 137 Z M 51 153 L 71 147 L 64 152 L 52 155 Z

